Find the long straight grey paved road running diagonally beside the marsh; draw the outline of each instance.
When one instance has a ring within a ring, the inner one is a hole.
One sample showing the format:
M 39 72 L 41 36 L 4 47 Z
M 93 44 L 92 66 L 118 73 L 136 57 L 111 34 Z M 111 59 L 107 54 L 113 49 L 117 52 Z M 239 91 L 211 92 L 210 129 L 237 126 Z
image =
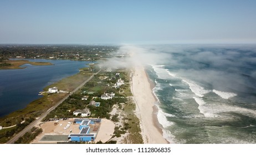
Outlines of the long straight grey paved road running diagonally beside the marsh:
M 60 100 L 55 106 L 49 108 L 49 110 L 47 110 L 46 112 L 44 112 L 37 120 L 33 121 L 32 123 L 30 123 L 27 127 L 25 127 L 21 132 L 19 132 L 16 136 L 14 136 L 12 139 L 10 139 L 8 142 L 6 142 L 7 144 L 13 144 L 15 141 L 18 140 L 19 137 L 23 136 L 26 132 L 28 132 L 33 126 L 37 125 L 39 122 L 41 122 L 43 120 L 44 117 L 47 116 L 48 113 L 50 113 L 52 110 L 55 109 L 55 107 L 59 106 L 64 100 L 66 100 L 70 95 L 72 95 L 75 91 L 77 91 L 78 89 L 80 89 L 80 87 L 84 86 L 86 84 L 86 82 L 90 81 L 91 79 L 93 79 L 94 75 L 98 74 L 101 70 L 99 70 L 97 73 L 91 75 L 89 77 L 89 79 L 85 80 L 81 85 L 79 85 L 78 87 L 76 87 L 76 89 L 74 89 L 73 91 L 70 92 L 69 95 L 67 95 L 66 97 L 64 97 L 62 100 Z

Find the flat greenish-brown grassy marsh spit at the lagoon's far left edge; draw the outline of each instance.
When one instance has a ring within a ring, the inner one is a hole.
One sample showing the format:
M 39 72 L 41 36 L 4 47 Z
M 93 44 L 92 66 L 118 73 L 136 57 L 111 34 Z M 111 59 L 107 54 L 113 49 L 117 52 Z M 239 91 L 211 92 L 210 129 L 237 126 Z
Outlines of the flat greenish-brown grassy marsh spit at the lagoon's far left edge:
M 53 65 L 52 63 L 45 63 L 45 62 L 30 62 L 28 60 L 8 60 L 4 63 L 0 63 L 0 69 L 24 69 L 25 67 L 21 68 L 21 65 L 30 64 L 30 65 Z

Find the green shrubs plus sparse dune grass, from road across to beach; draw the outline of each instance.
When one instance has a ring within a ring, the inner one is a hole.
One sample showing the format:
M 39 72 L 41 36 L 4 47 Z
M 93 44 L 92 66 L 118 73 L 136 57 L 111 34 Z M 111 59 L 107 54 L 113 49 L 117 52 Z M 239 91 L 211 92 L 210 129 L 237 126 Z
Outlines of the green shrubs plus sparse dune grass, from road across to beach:
M 115 73 L 120 73 L 121 79 L 124 79 L 125 84 L 114 88 L 117 81 Z M 63 101 L 55 110 L 50 112 L 44 121 L 50 118 L 72 118 L 81 117 L 80 115 L 74 116 L 73 111 L 77 109 L 89 108 L 91 116 L 94 118 L 107 118 L 115 123 L 121 123 L 121 126 L 116 126 L 114 130 L 114 137 L 125 137 L 124 143 L 143 143 L 141 136 L 140 120 L 135 115 L 135 103 L 132 99 L 130 90 L 129 70 L 116 70 L 113 72 L 101 71 L 95 75 L 93 79 L 87 82 L 81 89 L 70 95 L 68 99 Z M 102 94 L 115 93 L 115 97 L 109 100 L 100 99 Z M 83 96 L 89 96 L 87 100 L 81 100 Z M 100 102 L 100 106 L 96 107 L 89 105 L 90 101 Z M 121 113 L 111 115 L 113 106 L 119 107 Z M 127 135 L 125 135 L 128 133 Z

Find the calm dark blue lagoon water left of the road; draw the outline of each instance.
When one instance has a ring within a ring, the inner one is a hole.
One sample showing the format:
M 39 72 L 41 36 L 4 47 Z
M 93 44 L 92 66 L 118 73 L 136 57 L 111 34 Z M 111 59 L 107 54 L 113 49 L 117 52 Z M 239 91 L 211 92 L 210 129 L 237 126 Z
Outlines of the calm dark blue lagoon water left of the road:
M 0 117 L 24 108 L 30 102 L 39 99 L 38 92 L 45 86 L 57 82 L 64 77 L 79 73 L 90 61 L 71 60 L 34 60 L 54 65 L 27 66 L 25 69 L 0 70 Z

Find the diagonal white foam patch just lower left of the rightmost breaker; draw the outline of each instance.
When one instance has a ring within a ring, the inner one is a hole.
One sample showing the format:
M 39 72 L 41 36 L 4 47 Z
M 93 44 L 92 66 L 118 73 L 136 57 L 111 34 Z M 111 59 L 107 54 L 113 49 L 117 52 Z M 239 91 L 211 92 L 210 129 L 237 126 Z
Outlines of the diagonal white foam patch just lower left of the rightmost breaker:
M 209 108 L 207 108 L 207 106 L 205 106 L 206 102 L 204 102 L 202 98 L 193 97 L 193 99 L 199 105 L 198 109 L 199 109 L 200 113 L 202 113 L 204 115 L 204 117 L 218 117 L 218 115 L 215 115 L 212 110 L 209 110 Z

